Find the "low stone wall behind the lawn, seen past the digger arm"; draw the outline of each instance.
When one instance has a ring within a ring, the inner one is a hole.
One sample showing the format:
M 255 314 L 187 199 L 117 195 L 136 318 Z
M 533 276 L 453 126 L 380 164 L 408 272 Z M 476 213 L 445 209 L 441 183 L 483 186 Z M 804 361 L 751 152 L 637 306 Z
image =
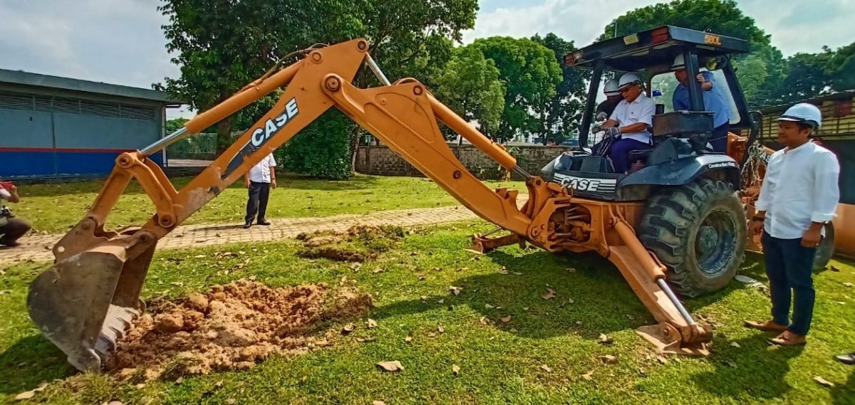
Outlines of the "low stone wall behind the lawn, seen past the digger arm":
M 479 179 L 500 179 L 504 170 L 473 145 L 449 145 L 451 152 Z M 524 145 L 509 147 L 510 154 L 516 157 L 517 165 L 528 173 L 538 174 L 540 168 L 555 159 L 555 156 L 570 150 L 561 146 Z M 404 161 L 386 146 L 360 146 L 357 150 L 355 167 L 357 173 L 379 176 L 419 176 L 422 173 Z M 514 179 L 517 179 L 516 175 Z

